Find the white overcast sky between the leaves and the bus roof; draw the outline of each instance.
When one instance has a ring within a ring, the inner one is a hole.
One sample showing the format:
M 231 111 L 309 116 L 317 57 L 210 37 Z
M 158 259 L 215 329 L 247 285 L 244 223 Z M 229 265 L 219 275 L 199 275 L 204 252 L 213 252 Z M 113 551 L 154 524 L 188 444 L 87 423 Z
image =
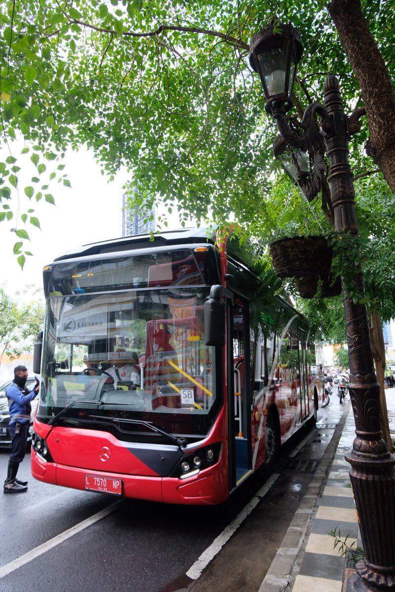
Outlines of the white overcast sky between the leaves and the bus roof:
M 7 156 L 2 152 L 0 150 L 0 160 Z M 21 160 L 18 158 L 19 162 Z M 85 149 L 78 152 L 70 150 L 63 162 L 66 165 L 63 172 L 68 173 L 72 188 L 55 183 L 48 191 L 53 194 L 56 206 L 43 200 L 38 203 L 34 215 L 40 219 L 41 231 L 30 224 L 25 226 L 31 237 L 33 257 L 27 257 L 23 271 L 12 254 L 15 234 L 9 231 L 8 224 L 0 224 L 3 253 L 0 285 L 11 295 L 22 291 L 26 285 L 42 287 L 43 266 L 71 247 L 122 236 L 122 186 L 127 179 L 126 172 L 118 173 L 115 180 L 108 183 L 92 153 Z M 54 168 L 53 165 L 51 168 Z M 32 174 L 35 173 L 31 163 L 26 162 L 25 169 L 22 166 L 19 173 L 22 188 L 30 184 Z M 22 199 L 24 208 L 21 213 L 30 205 L 36 207 L 26 197 Z M 178 227 L 177 215 L 172 216 L 169 227 Z M 26 297 L 23 298 L 25 300 Z

